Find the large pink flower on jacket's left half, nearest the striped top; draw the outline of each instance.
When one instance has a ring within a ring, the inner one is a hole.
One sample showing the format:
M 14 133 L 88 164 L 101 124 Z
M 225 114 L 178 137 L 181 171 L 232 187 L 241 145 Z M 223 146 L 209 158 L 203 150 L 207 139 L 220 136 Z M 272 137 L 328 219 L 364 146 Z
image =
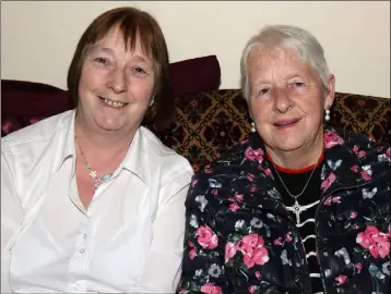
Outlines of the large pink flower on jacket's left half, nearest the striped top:
M 252 268 L 254 265 L 264 265 L 269 261 L 269 253 L 263 246 L 263 237 L 253 233 L 244 236 L 239 242 L 239 250 L 244 255 L 244 262 L 247 268 Z

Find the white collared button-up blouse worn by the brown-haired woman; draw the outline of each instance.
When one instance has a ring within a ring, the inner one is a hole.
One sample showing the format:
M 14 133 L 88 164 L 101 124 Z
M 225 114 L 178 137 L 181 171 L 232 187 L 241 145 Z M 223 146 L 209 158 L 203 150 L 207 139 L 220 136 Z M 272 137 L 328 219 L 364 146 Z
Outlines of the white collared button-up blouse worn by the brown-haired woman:
M 174 293 L 189 162 L 145 127 L 84 209 L 74 111 L 1 139 L 1 293 Z

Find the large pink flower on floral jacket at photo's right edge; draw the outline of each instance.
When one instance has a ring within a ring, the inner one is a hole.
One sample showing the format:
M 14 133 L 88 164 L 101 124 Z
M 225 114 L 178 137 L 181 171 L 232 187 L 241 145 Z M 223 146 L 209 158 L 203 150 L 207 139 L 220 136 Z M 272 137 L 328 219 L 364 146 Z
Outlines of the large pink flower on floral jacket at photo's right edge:
M 390 240 L 388 234 L 380 232 L 376 226 L 368 225 L 367 229 L 357 234 L 356 242 L 375 258 L 386 258 L 390 254 Z

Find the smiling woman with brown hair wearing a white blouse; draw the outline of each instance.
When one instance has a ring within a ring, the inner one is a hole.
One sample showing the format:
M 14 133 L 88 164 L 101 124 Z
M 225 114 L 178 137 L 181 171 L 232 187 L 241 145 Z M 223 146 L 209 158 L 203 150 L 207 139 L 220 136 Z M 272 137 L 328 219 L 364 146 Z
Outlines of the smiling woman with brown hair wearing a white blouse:
M 174 292 L 193 172 L 141 126 L 174 111 L 156 21 L 99 15 L 68 86 L 74 110 L 1 140 L 1 292 Z

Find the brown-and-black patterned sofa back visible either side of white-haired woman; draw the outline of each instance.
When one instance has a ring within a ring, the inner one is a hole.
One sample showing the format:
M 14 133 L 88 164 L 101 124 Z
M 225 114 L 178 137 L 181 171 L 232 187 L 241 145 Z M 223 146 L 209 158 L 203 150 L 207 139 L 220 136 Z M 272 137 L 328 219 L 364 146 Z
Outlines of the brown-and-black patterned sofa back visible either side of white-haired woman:
M 247 103 L 239 89 L 220 89 L 177 99 L 173 127 L 155 132 L 198 172 L 250 132 Z M 331 125 L 390 142 L 390 99 L 337 93 Z

